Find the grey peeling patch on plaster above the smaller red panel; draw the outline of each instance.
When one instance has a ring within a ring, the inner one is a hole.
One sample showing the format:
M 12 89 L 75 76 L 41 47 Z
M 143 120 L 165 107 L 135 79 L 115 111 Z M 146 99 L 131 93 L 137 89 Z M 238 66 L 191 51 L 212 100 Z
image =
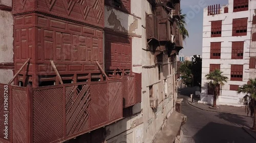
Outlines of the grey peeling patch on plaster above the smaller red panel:
M 111 12 L 111 14 L 108 18 L 108 22 L 111 26 L 114 26 L 113 27 L 114 30 L 127 33 L 127 30 L 125 30 L 125 28 L 121 25 L 120 20 L 117 19 L 117 16 L 116 16 L 116 14 L 114 13 L 113 10 L 112 10 L 112 12 Z

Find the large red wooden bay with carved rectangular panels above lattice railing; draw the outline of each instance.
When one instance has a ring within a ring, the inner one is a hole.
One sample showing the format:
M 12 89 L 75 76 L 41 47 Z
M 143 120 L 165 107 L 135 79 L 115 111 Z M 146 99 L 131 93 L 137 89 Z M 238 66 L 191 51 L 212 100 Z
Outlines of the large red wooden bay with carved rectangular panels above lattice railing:
M 74 74 L 74 70 L 100 73 L 95 61 L 103 65 L 102 30 L 34 13 L 15 16 L 14 20 L 16 70 L 31 58 L 29 75 L 55 74 L 50 60 L 60 74 Z M 20 74 L 25 74 L 25 68 Z

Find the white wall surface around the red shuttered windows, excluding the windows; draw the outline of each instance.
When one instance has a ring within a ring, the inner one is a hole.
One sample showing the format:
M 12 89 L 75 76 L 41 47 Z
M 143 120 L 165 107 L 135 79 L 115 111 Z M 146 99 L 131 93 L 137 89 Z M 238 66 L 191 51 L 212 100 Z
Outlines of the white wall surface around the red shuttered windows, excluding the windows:
M 250 52 L 250 38 L 252 15 L 254 14 L 255 2 L 249 1 L 249 10 L 233 13 L 233 3 L 229 0 L 229 13 L 221 13 L 218 15 L 207 16 L 207 8 L 204 9 L 203 14 L 203 49 L 202 49 L 202 94 L 207 95 L 207 80 L 205 75 L 209 73 L 210 64 L 221 64 L 221 71 L 223 75 L 228 77 L 228 82 L 224 85 L 222 94 L 219 97 L 219 104 L 242 105 L 243 94 L 237 94 L 236 91 L 229 91 L 230 84 L 242 85 L 247 83 L 249 79 L 249 52 Z M 222 7 L 224 9 L 224 7 Z M 222 11 L 223 12 L 223 11 Z M 248 17 L 247 35 L 246 36 L 232 36 L 232 20 L 236 18 Z M 222 20 L 222 37 L 210 37 L 211 21 Z M 232 42 L 244 41 L 244 58 L 243 60 L 232 60 L 231 50 Z M 210 42 L 221 43 L 221 59 L 210 59 Z M 243 81 L 230 81 L 231 64 L 244 65 Z M 205 99 L 206 100 L 206 99 Z

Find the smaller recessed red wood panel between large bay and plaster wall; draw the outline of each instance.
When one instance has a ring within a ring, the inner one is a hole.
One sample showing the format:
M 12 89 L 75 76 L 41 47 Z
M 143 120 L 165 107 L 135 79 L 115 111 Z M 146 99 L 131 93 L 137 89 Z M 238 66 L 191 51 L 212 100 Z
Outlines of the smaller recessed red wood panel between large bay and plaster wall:
M 116 33 L 105 33 L 105 69 L 131 70 L 132 39 Z

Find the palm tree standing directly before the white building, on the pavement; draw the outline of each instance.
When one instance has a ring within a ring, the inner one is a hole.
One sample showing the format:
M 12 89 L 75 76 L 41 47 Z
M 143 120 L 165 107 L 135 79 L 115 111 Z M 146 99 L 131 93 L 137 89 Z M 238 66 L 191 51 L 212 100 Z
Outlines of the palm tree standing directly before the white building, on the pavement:
M 224 85 L 224 82 L 227 82 L 227 77 L 222 75 L 222 71 L 219 69 L 216 69 L 209 74 L 205 75 L 207 80 L 210 80 L 209 82 L 209 90 L 214 95 L 214 104 L 212 107 L 217 108 L 216 100 L 219 95 L 221 95 L 221 90 Z

